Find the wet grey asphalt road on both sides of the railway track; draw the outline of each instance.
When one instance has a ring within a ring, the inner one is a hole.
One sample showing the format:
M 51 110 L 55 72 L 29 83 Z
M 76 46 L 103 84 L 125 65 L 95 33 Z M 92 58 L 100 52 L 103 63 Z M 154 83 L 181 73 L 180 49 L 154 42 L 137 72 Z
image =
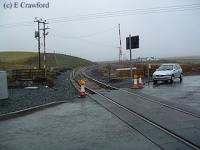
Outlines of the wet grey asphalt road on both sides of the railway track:
M 200 114 L 200 76 L 152 83 L 132 92 L 151 95 Z M 121 83 L 120 83 L 121 84 Z M 125 85 L 125 84 L 124 84 Z M 126 86 L 124 86 L 126 87 Z M 159 149 L 94 101 L 75 100 L 0 122 L 0 150 Z

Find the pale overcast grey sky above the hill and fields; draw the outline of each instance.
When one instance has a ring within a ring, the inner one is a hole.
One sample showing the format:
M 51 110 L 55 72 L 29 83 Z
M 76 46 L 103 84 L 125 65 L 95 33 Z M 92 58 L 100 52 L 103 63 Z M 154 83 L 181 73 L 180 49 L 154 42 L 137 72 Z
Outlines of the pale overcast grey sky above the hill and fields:
M 125 58 L 129 34 L 140 36 L 134 58 L 200 56 L 199 0 L 23 0 L 49 2 L 49 8 L 41 9 L 5 9 L 5 2 L 22 1 L 0 2 L 0 51 L 37 52 L 34 18 L 39 17 L 49 22 L 47 52 L 117 60 L 120 23 Z

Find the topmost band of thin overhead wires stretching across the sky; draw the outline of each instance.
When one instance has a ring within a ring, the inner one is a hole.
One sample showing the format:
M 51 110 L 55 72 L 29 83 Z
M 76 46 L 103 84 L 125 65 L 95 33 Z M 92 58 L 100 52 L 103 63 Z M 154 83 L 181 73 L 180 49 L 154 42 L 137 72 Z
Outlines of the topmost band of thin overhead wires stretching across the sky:
M 190 5 L 173 5 L 165 7 L 151 7 L 145 9 L 134 9 L 134 10 L 120 10 L 112 12 L 100 12 L 94 14 L 86 15 L 76 15 L 61 18 L 49 18 L 51 23 L 61 23 L 61 22 L 73 22 L 73 21 L 86 21 L 101 18 L 119 17 L 119 16 L 130 16 L 130 15 L 147 15 L 156 13 L 166 13 L 166 12 L 177 12 L 177 11 L 189 11 L 200 9 L 200 4 L 190 4 Z M 11 24 L 1 24 L 0 28 L 12 28 L 18 26 L 32 26 L 31 22 L 18 22 Z

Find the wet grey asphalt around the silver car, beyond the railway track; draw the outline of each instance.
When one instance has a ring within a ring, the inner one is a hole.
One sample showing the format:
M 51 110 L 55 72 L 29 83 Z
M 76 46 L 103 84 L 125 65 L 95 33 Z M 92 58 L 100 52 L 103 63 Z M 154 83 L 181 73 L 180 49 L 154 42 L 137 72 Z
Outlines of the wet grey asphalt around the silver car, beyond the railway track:
M 179 79 L 173 84 L 150 83 L 149 86 L 146 84 L 145 88 L 136 92 L 161 98 L 172 105 L 200 114 L 200 76 L 184 76 L 182 83 Z

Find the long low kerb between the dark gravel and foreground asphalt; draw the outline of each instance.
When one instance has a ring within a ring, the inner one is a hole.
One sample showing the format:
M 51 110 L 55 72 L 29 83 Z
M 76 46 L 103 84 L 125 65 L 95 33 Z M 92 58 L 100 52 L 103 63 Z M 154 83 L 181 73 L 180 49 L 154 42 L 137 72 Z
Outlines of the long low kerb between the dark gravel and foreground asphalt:
M 55 102 L 51 102 L 51 103 L 47 103 L 47 104 L 43 104 L 43 105 L 39 105 L 39 106 L 34 106 L 34 107 L 26 108 L 26 109 L 23 109 L 23 110 L 15 111 L 15 112 L 10 112 L 10 113 L 7 113 L 7 114 L 2 114 L 2 115 L 0 115 L 0 121 L 13 119 L 13 118 L 16 118 L 16 117 L 27 115 L 27 114 L 30 114 L 30 113 L 35 112 L 37 110 L 42 110 L 42 109 L 52 107 L 52 106 L 55 106 L 55 105 L 59 105 L 59 104 L 62 104 L 62 103 L 66 103 L 66 102 L 67 101 L 55 101 Z

